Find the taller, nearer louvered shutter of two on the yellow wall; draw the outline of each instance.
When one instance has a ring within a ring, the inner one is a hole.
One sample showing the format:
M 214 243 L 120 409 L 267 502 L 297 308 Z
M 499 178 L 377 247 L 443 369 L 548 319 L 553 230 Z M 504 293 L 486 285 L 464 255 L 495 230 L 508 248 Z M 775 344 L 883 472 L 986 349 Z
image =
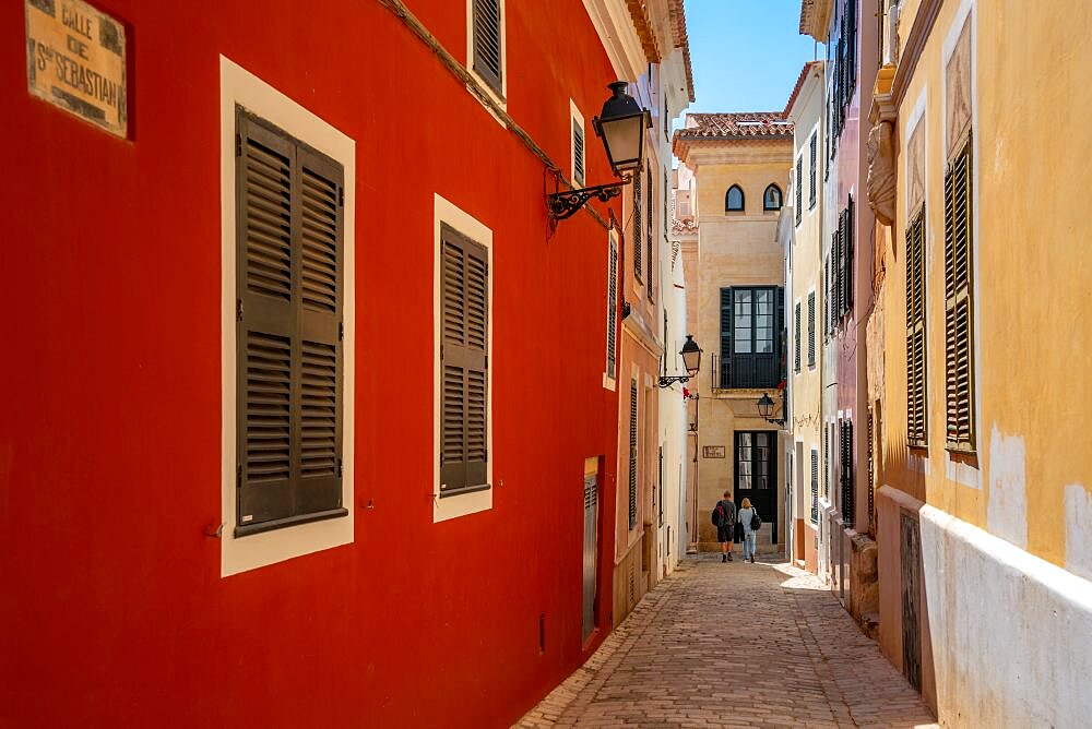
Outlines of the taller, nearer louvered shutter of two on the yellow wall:
M 974 451 L 974 306 L 971 135 L 945 174 L 947 445 Z

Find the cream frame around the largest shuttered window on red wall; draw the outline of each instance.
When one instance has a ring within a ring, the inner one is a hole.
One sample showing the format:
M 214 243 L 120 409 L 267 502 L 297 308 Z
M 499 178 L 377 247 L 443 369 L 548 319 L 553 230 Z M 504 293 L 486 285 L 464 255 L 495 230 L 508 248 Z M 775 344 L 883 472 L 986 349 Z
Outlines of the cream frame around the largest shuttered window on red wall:
M 237 352 L 236 106 L 268 120 L 337 162 L 345 171 L 344 369 L 342 378 L 342 503 L 348 514 L 236 538 Z M 221 577 L 353 542 L 355 519 L 356 142 L 232 60 L 219 57 L 221 189 Z

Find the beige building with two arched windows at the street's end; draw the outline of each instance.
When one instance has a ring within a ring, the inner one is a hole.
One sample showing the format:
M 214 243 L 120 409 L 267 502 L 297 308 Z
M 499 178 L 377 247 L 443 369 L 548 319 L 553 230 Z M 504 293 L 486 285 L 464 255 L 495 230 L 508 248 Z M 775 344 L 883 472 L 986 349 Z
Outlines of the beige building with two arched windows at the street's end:
M 793 162 L 793 124 L 780 111 L 690 115 L 675 133 L 693 170 L 698 256 L 687 311 L 704 350 L 698 401 L 698 547 L 717 549 L 709 514 L 724 491 L 762 516 L 759 550 L 785 541 L 783 433 L 759 416 L 769 394 L 781 418 L 785 378 L 784 259 L 778 218 Z M 691 381 L 690 384 L 695 384 Z M 696 514 L 693 512 L 697 512 Z

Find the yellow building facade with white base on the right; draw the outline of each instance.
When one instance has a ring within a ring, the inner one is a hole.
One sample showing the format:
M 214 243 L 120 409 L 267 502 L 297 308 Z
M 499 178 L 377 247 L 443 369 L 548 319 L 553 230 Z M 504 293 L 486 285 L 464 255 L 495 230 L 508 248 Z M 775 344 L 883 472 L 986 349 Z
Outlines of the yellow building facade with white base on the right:
M 880 3 L 880 643 L 950 726 L 1092 716 L 1092 5 Z M 969 657 L 974 656 L 973 662 Z

